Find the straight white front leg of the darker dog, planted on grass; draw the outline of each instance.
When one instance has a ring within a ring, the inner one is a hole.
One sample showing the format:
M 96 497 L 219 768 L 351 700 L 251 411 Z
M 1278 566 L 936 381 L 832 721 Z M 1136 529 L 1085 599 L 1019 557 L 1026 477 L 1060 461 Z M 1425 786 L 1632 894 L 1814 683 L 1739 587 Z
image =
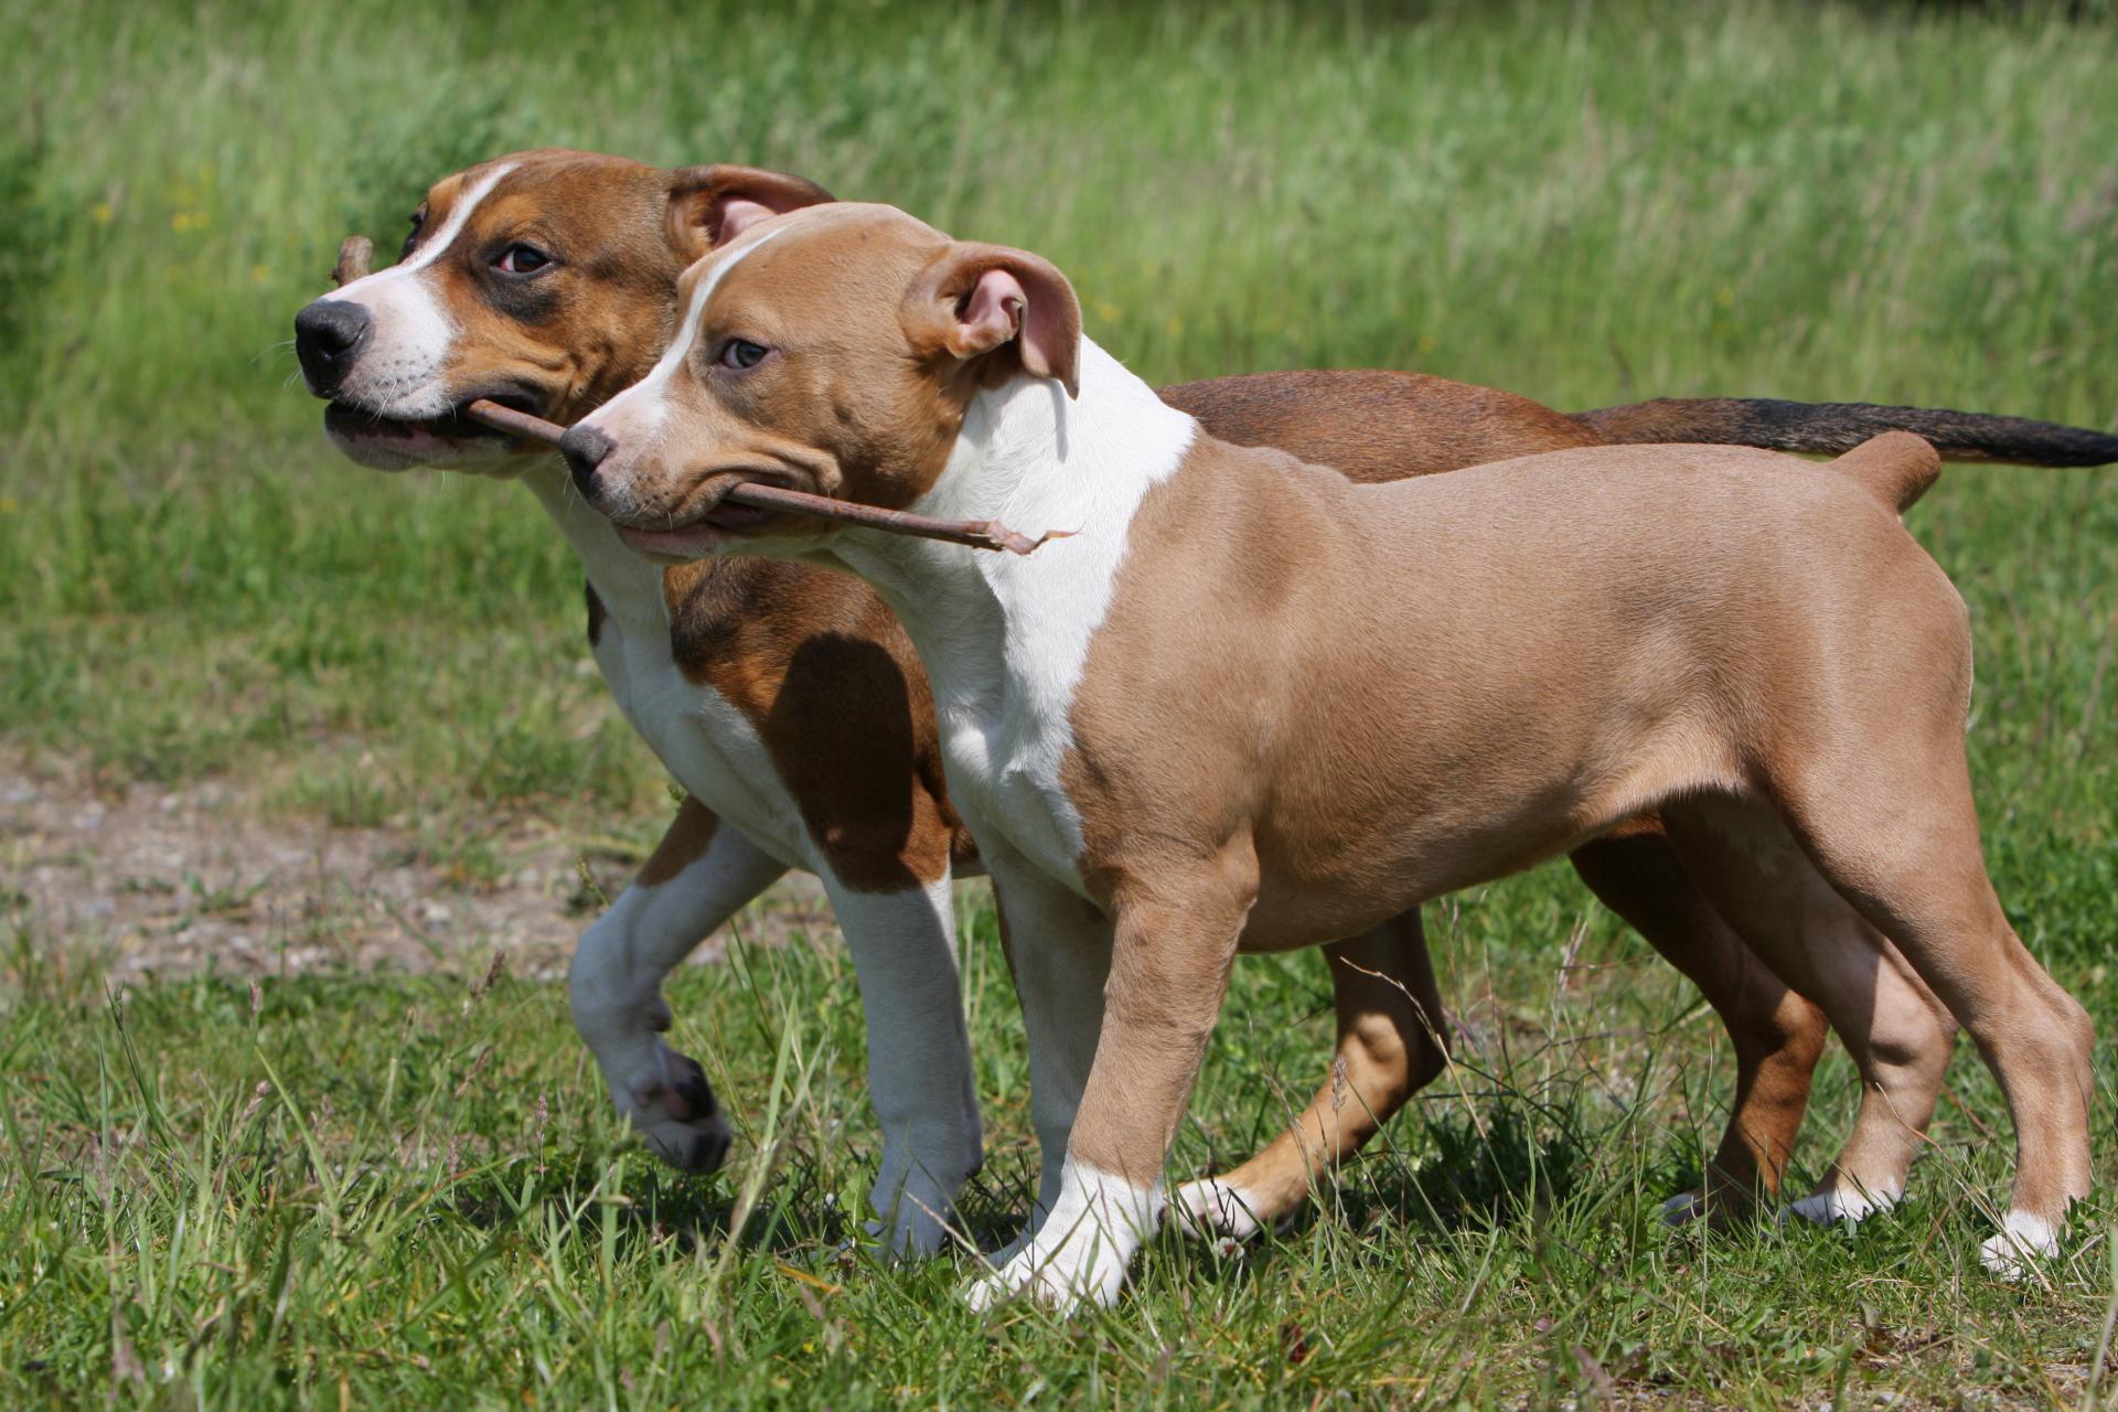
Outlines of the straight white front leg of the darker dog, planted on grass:
M 883 1130 L 870 1234 L 896 1255 L 932 1255 L 955 1194 L 985 1160 L 949 870 L 887 893 L 851 889 L 828 872 L 824 887 L 860 976 L 868 1092 Z

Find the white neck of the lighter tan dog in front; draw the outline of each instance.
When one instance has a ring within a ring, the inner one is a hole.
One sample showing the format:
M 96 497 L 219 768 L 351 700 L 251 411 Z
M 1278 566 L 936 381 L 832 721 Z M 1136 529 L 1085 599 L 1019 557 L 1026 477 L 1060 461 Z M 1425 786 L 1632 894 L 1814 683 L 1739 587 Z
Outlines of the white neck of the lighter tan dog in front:
M 807 559 L 875 584 L 919 648 L 945 716 L 991 709 L 995 696 L 1034 709 L 1072 692 L 1139 502 L 1201 436 L 1190 415 L 1082 339 L 1078 398 L 1027 377 L 981 392 L 949 464 L 909 506 L 1065 538 L 1017 557 L 847 529 Z

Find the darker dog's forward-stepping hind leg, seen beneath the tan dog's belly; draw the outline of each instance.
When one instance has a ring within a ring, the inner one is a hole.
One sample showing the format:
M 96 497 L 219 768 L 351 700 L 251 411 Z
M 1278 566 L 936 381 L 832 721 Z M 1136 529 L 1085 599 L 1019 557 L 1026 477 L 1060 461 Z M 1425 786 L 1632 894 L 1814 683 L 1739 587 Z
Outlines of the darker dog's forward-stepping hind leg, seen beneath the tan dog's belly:
M 1273 1143 L 1233 1173 L 1178 1188 L 1197 1236 L 1245 1241 L 1292 1213 L 1449 1065 L 1447 1020 L 1419 912 L 1324 946 L 1339 1046 L 1332 1073 Z

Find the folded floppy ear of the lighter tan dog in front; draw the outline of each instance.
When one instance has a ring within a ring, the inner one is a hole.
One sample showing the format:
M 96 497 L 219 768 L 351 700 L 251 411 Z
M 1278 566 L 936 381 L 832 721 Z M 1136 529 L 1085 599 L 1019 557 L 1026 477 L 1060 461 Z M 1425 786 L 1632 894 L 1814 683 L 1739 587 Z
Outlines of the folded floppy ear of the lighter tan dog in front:
M 913 284 L 904 320 L 930 351 L 968 362 L 1008 349 L 1029 377 L 1080 396 L 1080 301 L 1040 254 L 955 241 Z

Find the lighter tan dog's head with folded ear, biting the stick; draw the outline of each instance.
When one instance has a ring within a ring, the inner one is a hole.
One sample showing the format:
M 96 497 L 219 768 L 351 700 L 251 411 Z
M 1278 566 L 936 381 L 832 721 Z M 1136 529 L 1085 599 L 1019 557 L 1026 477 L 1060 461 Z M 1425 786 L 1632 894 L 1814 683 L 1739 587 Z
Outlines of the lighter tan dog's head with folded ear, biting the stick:
M 830 531 L 726 491 L 765 481 L 904 508 L 934 487 L 981 387 L 1074 392 L 1080 305 L 1040 256 L 887 205 L 771 216 L 718 201 L 707 222 L 720 241 L 678 286 L 674 341 L 561 442 L 582 495 L 642 553 L 796 553 Z

